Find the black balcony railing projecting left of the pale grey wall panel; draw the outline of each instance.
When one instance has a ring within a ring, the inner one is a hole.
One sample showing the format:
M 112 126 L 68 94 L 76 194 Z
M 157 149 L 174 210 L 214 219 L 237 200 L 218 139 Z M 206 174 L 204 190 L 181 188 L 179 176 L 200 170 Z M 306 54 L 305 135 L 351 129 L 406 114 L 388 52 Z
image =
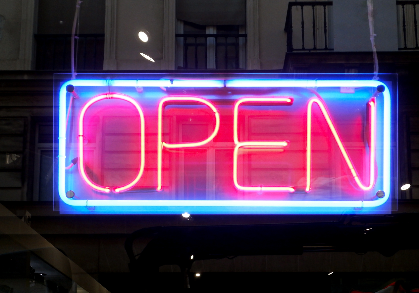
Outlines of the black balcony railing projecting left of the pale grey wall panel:
M 333 48 L 328 48 L 327 46 L 327 17 L 326 17 L 326 8 L 327 6 L 332 6 L 332 1 L 306 1 L 306 2 L 289 2 L 288 3 L 288 10 L 287 10 L 287 18 L 285 20 L 285 28 L 284 30 L 287 32 L 287 51 L 332 51 Z M 292 43 L 292 7 L 297 6 L 301 8 L 301 48 L 294 48 Z M 305 33 L 305 27 L 304 27 L 304 7 L 305 6 L 311 6 L 311 12 L 312 12 L 312 25 L 313 25 L 313 47 L 312 48 L 305 48 L 304 44 L 304 33 Z M 323 7 L 323 32 L 324 32 L 324 47 L 318 48 L 316 43 L 316 30 L 317 25 L 316 24 L 316 6 L 317 7 Z

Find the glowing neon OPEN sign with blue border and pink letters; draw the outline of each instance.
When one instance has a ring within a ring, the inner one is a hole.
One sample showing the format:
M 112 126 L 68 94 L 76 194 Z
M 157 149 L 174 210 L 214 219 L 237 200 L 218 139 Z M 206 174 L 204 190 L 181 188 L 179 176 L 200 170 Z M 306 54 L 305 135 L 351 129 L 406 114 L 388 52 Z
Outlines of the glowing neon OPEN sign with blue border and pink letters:
M 63 83 L 60 211 L 391 211 L 397 115 L 385 82 L 247 76 Z

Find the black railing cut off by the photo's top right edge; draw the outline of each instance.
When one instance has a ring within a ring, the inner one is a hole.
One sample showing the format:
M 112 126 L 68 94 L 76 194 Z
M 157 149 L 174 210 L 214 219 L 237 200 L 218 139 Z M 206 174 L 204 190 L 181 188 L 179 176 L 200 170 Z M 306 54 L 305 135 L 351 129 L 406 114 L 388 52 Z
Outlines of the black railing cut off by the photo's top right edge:
M 398 6 L 398 10 L 401 13 L 401 23 L 399 23 L 399 28 L 401 27 L 403 29 L 403 47 L 398 48 L 399 50 L 419 50 L 418 46 L 418 26 L 417 26 L 417 20 L 416 20 L 416 5 L 419 5 L 418 0 L 404 0 L 404 1 L 396 1 L 396 5 Z M 401 11 L 400 11 L 401 8 Z M 413 8 L 413 10 L 412 10 Z M 413 14 L 413 22 L 411 19 L 407 20 L 408 17 L 406 14 Z M 400 19 L 399 19 L 400 21 Z M 407 23 L 407 26 L 406 26 Z M 406 36 L 406 28 L 408 31 L 408 34 Z M 414 43 L 413 46 L 413 38 L 411 37 L 411 34 L 414 31 Z M 411 32 L 411 33 L 409 33 Z

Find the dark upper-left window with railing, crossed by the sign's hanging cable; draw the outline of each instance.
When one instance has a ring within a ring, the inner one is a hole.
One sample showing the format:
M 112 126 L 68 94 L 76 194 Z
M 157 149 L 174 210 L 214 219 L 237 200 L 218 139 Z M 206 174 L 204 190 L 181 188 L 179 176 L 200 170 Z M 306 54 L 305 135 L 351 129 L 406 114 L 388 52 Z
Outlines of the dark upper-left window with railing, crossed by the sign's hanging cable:
M 39 0 L 36 69 L 70 69 L 73 0 Z M 76 69 L 103 69 L 105 0 L 84 0 L 76 34 Z

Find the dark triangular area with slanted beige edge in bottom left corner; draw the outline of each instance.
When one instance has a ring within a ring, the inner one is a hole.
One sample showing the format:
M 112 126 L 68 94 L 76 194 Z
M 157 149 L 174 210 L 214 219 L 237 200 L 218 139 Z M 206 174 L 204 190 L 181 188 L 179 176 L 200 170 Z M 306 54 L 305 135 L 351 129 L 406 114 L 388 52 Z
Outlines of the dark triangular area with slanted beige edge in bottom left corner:
M 26 211 L 27 212 L 27 211 Z M 0 292 L 94 293 L 109 292 L 70 260 L 0 205 Z

